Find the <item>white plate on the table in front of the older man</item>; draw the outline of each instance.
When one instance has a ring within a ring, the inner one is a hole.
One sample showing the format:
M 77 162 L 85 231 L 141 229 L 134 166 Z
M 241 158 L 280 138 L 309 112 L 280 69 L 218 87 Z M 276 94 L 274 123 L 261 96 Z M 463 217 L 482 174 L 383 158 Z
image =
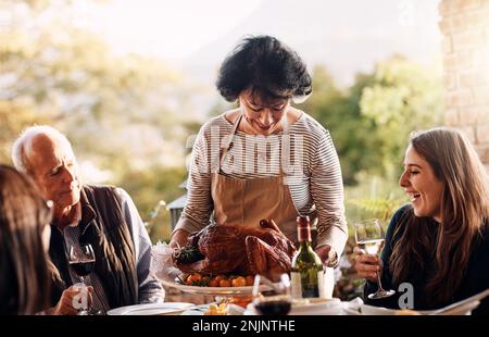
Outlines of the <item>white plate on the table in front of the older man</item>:
M 166 302 L 148 303 L 115 308 L 106 312 L 108 315 L 171 315 L 180 314 L 185 310 L 195 307 L 192 303 Z

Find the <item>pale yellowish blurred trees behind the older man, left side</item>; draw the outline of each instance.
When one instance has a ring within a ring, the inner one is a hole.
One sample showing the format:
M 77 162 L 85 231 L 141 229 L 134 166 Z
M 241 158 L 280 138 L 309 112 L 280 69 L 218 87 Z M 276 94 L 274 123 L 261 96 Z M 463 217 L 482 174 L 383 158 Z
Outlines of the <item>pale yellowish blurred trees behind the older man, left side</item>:
M 161 61 L 115 55 L 73 25 L 72 3 L 0 2 L 0 161 L 10 163 L 23 128 L 53 125 L 91 167 L 85 180 L 126 188 L 146 219 L 159 200 L 177 196 L 185 177 L 185 143 L 197 128 L 195 114 L 183 113 L 196 110 L 192 87 Z

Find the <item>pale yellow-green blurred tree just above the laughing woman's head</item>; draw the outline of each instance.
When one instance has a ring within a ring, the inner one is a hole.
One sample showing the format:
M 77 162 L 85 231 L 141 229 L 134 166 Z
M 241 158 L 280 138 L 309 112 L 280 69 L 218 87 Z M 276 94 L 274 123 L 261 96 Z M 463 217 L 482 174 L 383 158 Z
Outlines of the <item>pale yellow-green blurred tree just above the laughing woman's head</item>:
M 442 124 L 440 72 L 394 55 L 377 65 L 373 84 L 362 90 L 362 115 L 376 125 L 376 151 L 389 177 L 398 177 L 409 136 Z

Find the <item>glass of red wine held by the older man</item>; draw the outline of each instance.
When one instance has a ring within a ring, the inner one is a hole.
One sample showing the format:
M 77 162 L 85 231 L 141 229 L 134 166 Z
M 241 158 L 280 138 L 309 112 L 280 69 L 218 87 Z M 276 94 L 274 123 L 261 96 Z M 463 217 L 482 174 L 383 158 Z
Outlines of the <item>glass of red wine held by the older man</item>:
M 72 246 L 70 248 L 70 266 L 75 271 L 76 275 L 79 276 L 79 279 L 82 282 L 82 287 L 87 287 L 85 284 L 85 277 L 88 276 L 91 271 L 95 267 L 95 253 L 93 249 L 91 248 L 91 245 L 79 245 L 79 246 Z M 85 296 L 87 295 L 87 291 L 83 291 Z M 83 301 L 83 303 L 86 303 Z M 88 310 L 87 305 L 84 305 L 79 308 L 78 315 L 88 315 L 90 314 L 90 311 Z

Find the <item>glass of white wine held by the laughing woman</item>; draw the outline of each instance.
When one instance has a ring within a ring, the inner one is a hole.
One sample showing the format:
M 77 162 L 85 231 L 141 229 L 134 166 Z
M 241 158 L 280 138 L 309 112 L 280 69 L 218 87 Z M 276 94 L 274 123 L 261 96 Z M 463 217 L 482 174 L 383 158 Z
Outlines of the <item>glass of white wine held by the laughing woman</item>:
M 365 220 L 355 223 L 355 241 L 356 245 L 369 255 L 377 255 L 384 247 L 385 233 L 378 219 Z M 385 290 L 380 282 L 380 273 L 377 271 L 378 289 L 376 292 L 368 295 L 369 299 L 380 299 L 390 297 L 396 294 L 394 290 Z

